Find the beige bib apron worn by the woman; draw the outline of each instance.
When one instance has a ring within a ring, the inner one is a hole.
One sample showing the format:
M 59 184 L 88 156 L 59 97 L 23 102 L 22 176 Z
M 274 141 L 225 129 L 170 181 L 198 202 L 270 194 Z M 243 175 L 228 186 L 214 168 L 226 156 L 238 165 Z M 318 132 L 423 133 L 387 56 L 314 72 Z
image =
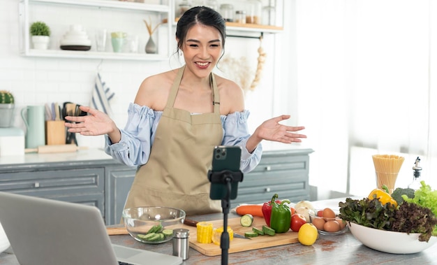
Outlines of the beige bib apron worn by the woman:
M 207 171 L 215 145 L 223 137 L 219 104 L 214 113 L 191 115 L 173 108 L 185 66 L 179 69 L 156 129 L 147 164 L 138 169 L 125 208 L 167 206 L 187 215 L 217 213 L 221 201 L 209 199 Z M 214 102 L 219 102 L 211 74 Z

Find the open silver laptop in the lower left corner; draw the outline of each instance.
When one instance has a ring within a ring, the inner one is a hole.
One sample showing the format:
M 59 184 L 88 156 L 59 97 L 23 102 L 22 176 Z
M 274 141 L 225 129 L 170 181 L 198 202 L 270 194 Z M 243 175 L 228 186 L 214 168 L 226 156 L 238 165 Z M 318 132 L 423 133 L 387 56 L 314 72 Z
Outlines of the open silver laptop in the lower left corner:
M 100 210 L 80 203 L 0 192 L 0 223 L 20 264 L 183 262 L 181 257 L 112 244 Z

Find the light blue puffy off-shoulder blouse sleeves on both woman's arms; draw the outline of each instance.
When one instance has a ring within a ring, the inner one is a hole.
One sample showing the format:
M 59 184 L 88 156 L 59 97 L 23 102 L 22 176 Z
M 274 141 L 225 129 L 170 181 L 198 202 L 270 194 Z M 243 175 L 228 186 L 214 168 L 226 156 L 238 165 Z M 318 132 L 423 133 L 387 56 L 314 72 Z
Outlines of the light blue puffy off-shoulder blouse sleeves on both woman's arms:
M 147 106 L 130 103 L 128 121 L 121 129 L 121 141 L 111 143 L 105 137 L 105 152 L 127 166 L 142 166 L 149 160 L 151 145 L 154 143 L 156 128 L 163 112 L 155 111 Z M 251 136 L 247 128 L 249 110 L 221 115 L 223 139 L 221 145 L 239 145 L 242 147 L 240 170 L 247 173 L 258 165 L 262 155 L 261 144 L 249 153 L 246 141 Z

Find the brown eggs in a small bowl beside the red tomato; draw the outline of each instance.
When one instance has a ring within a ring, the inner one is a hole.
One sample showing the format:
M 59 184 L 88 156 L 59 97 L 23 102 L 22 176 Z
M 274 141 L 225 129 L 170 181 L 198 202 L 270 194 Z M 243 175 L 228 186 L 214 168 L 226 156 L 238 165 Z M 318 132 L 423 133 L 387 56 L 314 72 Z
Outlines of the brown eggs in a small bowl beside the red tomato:
M 311 224 L 314 224 L 317 228 L 318 234 L 338 235 L 348 231 L 346 222 L 338 217 L 339 213 L 337 211 L 333 210 L 335 217 L 332 218 L 323 217 L 321 212 L 323 212 L 323 209 L 315 210 L 314 213 L 309 213 L 309 220 Z M 320 215 L 318 215 L 318 213 L 320 213 Z

